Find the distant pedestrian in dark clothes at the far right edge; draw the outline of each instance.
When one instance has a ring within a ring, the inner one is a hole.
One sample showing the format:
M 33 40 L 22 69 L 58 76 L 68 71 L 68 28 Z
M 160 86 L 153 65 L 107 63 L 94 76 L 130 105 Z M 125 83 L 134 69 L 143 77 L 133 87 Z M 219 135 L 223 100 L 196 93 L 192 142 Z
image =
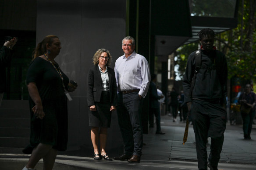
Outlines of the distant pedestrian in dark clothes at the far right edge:
M 241 110 L 244 139 L 252 139 L 252 121 L 255 116 L 256 95 L 252 92 L 252 87 L 250 84 L 245 85 L 245 92 L 240 95 L 238 102 L 241 104 L 241 108 L 244 107 L 248 110 L 246 112 Z

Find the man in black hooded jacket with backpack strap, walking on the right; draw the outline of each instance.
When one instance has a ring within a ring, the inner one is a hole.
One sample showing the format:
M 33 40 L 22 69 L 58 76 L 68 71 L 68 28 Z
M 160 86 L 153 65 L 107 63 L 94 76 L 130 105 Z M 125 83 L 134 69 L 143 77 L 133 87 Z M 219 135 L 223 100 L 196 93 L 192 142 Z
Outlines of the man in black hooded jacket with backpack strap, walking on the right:
M 188 57 L 183 90 L 192 117 L 196 137 L 199 170 L 217 170 L 224 142 L 227 112 L 228 68 L 225 55 L 213 46 L 215 33 L 204 28 L 199 33 L 202 44 Z M 206 143 L 211 138 L 207 161 Z

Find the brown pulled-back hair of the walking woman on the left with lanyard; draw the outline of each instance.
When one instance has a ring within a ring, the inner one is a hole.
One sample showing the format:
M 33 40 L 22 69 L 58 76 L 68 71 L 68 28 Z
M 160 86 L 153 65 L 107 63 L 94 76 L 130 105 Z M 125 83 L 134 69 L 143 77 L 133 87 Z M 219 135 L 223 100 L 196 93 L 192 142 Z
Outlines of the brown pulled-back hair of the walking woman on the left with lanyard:
M 42 56 L 44 53 L 46 53 L 46 44 L 52 45 L 54 38 L 59 37 L 57 37 L 56 35 L 47 35 L 45 38 L 43 38 L 43 41 L 39 42 L 39 44 L 33 52 L 33 59 L 36 59 L 36 57 Z

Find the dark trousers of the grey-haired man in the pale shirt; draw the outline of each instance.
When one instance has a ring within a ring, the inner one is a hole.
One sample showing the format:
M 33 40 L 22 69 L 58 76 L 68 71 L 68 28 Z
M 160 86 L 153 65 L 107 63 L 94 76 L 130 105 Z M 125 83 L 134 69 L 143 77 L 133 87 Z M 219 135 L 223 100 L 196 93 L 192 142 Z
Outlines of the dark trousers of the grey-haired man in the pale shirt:
M 138 92 L 117 95 L 118 124 L 124 141 L 124 153 L 128 155 L 142 154 L 142 101 Z

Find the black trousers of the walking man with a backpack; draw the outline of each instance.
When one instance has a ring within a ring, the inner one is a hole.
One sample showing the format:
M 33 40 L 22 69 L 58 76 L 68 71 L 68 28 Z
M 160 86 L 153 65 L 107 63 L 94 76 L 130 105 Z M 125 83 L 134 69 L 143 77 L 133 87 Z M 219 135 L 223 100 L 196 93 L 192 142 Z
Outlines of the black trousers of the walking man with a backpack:
M 190 110 L 196 137 L 196 154 L 199 170 L 207 170 L 207 138 L 211 137 L 208 160 L 217 167 L 224 142 L 227 112 L 218 103 L 193 100 Z

